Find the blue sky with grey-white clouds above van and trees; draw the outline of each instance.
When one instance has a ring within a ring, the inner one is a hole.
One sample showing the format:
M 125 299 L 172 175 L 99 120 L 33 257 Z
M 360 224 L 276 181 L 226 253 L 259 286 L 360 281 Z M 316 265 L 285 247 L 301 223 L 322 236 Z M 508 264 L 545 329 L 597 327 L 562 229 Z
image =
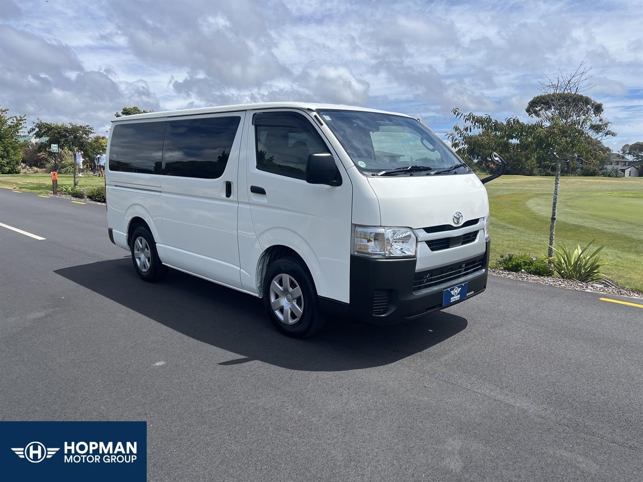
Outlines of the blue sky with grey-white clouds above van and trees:
M 109 129 L 124 106 L 266 101 L 527 120 L 545 77 L 592 67 L 618 150 L 643 141 L 643 1 L 0 0 L 0 105 Z

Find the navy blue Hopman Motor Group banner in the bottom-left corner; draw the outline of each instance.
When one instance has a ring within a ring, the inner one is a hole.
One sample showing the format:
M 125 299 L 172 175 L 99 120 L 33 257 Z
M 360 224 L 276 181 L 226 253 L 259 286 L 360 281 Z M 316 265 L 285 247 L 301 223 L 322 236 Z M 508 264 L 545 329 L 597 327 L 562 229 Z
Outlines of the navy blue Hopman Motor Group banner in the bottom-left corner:
M 0 422 L 6 481 L 147 479 L 147 422 Z

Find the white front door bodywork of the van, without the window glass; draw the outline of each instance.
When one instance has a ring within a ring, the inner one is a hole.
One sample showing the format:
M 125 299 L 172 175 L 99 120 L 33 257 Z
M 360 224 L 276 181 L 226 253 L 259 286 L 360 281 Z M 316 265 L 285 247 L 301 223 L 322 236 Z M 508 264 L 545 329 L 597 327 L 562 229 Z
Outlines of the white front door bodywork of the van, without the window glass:
M 288 111 L 288 109 L 284 109 Z M 292 110 L 291 110 L 292 111 Z M 341 162 L 341 186 L 309 184 L 303 179 L 266 172 L 257 168 L 257 146 L 253 114 L 248 112 L 246 188 L 256 186 L 265 193 L 248 192 L 251 220 L 255 238 L 239 233 L 242 271 L 254 274 L 255 280 L 245 276 L 249 285 L 257 289 L 257 263 L 260 255 L 273 245 L 284 245 L 298 253 L 312 274 L 319 296 L 347 303 L 349 301 L 350 272 L 350 218 L 352 184 Z M 325 135 L 305 112 L 312 129 L 320 134 L 331 154 Z M 246 215 L 244 213 L 244 215 Z M 246 215 L 247 219 L 247 215 Z M 244 281 L 245 283 L 245 281 Z

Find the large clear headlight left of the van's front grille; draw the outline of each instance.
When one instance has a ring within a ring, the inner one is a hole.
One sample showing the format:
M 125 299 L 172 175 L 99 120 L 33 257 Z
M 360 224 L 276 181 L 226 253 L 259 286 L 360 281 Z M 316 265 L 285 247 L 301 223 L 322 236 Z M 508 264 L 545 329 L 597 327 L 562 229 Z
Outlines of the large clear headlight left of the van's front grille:
M 408 258 L 415 256 L 417 237 L 413 229 L 389 226 L 355 226 L 353 254 L 373 258 Z

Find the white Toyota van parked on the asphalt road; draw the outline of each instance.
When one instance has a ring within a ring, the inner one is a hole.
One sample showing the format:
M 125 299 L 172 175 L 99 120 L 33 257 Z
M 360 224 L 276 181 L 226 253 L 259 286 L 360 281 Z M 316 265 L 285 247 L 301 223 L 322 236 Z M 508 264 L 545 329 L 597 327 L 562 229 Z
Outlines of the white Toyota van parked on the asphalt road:
M 328 311 L 412 319 L 487 285 L 483 183 L 410 116 L 296 102 L 152 112 L 114 120 L 107 156 L 109 238 L 143 280 L 172 267 L 263 298 L 286 334 L 313 334 Z

